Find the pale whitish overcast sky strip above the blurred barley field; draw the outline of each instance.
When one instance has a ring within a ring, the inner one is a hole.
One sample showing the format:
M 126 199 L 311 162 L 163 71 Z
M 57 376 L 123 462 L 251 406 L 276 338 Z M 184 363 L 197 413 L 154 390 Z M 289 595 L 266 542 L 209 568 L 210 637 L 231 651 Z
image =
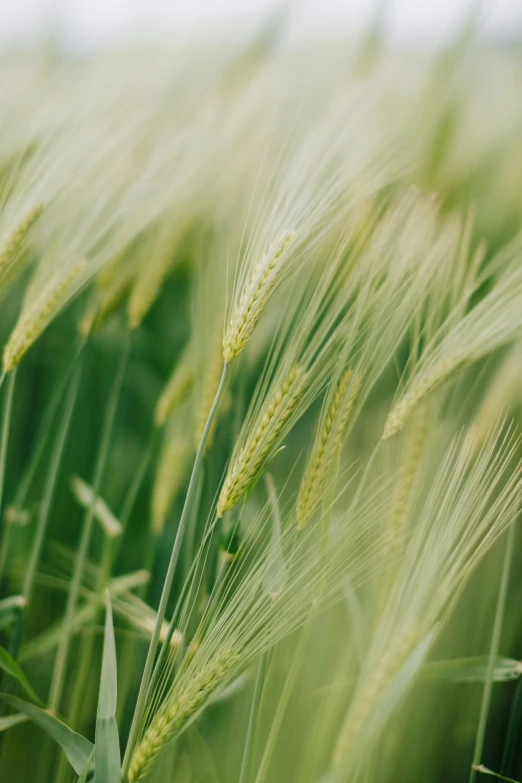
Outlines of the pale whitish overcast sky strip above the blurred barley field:
M 382 0 L 380 0 L 382 2 Z M 356 34 L 379 0 L 290 0 L 292 28 Z M 469 0 L 388 0 L 386 29 L 393 40 L 437 43 L 470 8 Z M 277 7 L 274 0 L 0 0 L 0 42 L 34 41 L 50 24 L 73 46 L 90 47 L 143 32 L 251 26 Z M 486 34 L 522 31 L 522 0 L 482 0 Z

